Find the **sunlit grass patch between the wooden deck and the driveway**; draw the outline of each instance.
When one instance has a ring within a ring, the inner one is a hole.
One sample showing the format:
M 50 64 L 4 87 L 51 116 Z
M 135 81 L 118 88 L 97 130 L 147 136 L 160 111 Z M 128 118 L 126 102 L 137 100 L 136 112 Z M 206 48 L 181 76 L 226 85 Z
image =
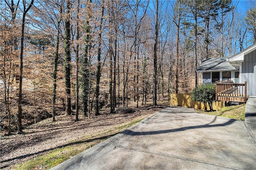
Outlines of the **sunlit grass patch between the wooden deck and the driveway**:
M 230 106 L 230 107 L 223 107 L 220 111 L 215 111 L 215 112 L 204 112 L 203 110 L 196 110 L 196 112 L 201 113 L 201 114 L 222 116 L 222 117 L 227 117 L 227 118 L 230 118 L 230 119 L 236 119 L 236 120 L 244 121 L 244 118 L 245 118 L 245 104 Z

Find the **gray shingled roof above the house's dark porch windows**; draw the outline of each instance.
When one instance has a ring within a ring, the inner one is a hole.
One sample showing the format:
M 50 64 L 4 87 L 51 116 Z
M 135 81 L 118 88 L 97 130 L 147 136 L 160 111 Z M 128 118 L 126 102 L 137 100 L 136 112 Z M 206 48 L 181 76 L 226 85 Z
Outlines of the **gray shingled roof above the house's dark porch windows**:
M 198 66 L 197 72 L 208 72 L 208 71 L 231 71 L 237 70 L 235 67 L 230 65 L 226 61 L 227 57 L 208 58 L 204 59 Z

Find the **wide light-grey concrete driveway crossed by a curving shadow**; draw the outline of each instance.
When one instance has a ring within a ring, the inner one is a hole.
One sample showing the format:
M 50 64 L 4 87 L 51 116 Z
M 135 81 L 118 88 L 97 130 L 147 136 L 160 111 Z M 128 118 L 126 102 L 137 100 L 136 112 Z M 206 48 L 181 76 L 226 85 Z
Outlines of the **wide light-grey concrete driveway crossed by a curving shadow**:
M 52 169 L 256 169 L 243 121 L 170 107 Z

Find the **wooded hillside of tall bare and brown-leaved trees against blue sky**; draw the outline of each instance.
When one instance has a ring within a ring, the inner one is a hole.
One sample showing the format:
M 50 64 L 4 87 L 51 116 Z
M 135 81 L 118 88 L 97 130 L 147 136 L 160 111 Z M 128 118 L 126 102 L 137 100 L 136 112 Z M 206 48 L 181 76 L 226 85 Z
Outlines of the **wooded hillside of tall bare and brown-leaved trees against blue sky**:
M 1 0 L 0 130 L 191 92 L 203 59 L 256 42 L 255 1 L 240 3 Z

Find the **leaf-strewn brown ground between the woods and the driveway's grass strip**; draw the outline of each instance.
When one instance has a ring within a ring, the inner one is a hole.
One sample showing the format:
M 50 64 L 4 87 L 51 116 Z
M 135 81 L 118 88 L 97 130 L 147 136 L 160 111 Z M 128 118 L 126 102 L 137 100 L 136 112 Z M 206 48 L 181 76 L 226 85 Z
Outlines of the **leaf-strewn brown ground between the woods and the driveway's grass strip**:
M 0 169 L 12 169 L 17 164 L 58 148 L 72 146 L 77 141 L 90 142 L 93 140 L 84 140 L 86 136 L 102 134 L 102 136 L 97 135 L 94 139 L 110 137 L 106 136 L 104 132 L 132 121 L 142 120 L 169 106 L 169 102 L 159 103 L 156 107 L 144 105 L 134 109 L 134 113 L 109 114 L 102 111 L 99 116 L 92 115 L 90 119 L 82 117 L 80 114 L 78 122 L 74 122 L 74 115 L 57 116 L 56 122 L 52 122 L 52 118 L 40 121 L 26 127 L 22 134 L 0 137 Z M 38 169 L 42 168 L 38 166 Z

